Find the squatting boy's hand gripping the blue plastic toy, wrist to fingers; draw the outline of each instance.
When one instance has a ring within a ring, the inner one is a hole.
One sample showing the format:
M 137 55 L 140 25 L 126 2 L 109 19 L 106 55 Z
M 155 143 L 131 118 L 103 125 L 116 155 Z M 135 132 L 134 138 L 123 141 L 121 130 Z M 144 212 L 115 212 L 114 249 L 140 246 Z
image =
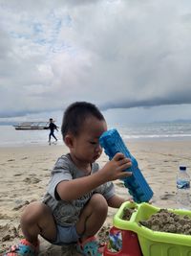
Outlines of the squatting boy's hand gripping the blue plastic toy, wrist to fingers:
M 123 172 L 132 166 L 130 158 L 126 158 L 123 153 L 117 152 L 113 159 L 108 162 L 101 170 L 107 181 L 116 180 L 132 175 L 130 172 Z

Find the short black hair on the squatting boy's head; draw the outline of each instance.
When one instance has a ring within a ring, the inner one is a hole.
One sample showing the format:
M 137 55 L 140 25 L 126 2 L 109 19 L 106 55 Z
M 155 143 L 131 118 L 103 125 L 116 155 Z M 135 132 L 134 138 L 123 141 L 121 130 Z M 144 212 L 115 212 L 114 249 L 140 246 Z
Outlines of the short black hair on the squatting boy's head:
M 94 116 L 98 120 L 105 120 L 96 105 L 86 102 L 75 102 L 69 105 L 64 112 L 62 120 L 61 132 L 63 140 L 69 131 L 74 136 L 77 136 L 84 121 L 90 116 Z

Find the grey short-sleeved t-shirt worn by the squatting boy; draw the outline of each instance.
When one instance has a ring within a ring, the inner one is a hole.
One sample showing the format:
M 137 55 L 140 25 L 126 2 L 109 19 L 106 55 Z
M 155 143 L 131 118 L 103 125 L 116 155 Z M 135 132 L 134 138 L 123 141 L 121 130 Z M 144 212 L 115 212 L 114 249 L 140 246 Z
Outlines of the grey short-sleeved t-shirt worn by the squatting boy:
M 93 163 L 91 174 L 96 173 L 98 169 L 98 164 Z M 77 167 L 74 165 L 70 154 L 62 155 L 57 159 L 53 167 L 51 180 L 49 182 L 47 193 L 43 198 L 43 202 L 51 207 L 54 221 L 59 225 L 69 226 L 76 223 L 76 221 L 78 221 L 81 210 L 87 201 L 93 196 L 93 194 L 99 193 L 103 195 L 106 200 L 112 198 L 115 195 L 113 182 L 107 182 L 97 187 L 90 193 L 87 193 L 81 198 L 77 198 L 73 201 L 65 201 L 58 197 L 55 190 L 58 183 L 63 180 L 72 180 L 82 176 L 84 176 L 84 173 L 77 169 Z

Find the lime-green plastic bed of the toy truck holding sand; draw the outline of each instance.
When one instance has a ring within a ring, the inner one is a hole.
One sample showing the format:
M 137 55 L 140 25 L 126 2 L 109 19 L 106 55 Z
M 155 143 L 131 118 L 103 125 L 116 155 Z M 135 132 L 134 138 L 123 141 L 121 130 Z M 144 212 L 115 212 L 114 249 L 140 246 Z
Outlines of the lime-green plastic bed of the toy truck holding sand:
M 122 220 L 123 211 L 126 208 L 136 208 L 130 221 Z M 123 230 L 131 230 L 138 234 L 138 241 L 144 256 L 191 256 L 191 236 L 153 231 L 139 224 L 146 221 L 151 215 L 159 211 L 148 203 L 124 202 L 114 217 L 114 226 Z M 168 209 L 179 215 L 188 215 L 191 211 Z

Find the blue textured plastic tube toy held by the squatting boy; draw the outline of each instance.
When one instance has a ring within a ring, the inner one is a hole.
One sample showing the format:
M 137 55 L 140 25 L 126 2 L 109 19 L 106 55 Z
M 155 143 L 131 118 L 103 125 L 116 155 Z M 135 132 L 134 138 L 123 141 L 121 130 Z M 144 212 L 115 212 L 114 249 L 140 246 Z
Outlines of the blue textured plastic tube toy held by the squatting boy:
M 138 161 L 127 150 L 122 138 L 116 128 L 109 129 L 100 136 L 99 143 L 111 160 L 117 152 L 122 152 L 132 161 L 132 166 L 125 171 L 132 175 L 123 178 L 124 186 L 128 188 L 129 194 L 136 202 L 149 201 L 153 197 L 153 191 L 146 182 L 144 176 L 138 169 Z

